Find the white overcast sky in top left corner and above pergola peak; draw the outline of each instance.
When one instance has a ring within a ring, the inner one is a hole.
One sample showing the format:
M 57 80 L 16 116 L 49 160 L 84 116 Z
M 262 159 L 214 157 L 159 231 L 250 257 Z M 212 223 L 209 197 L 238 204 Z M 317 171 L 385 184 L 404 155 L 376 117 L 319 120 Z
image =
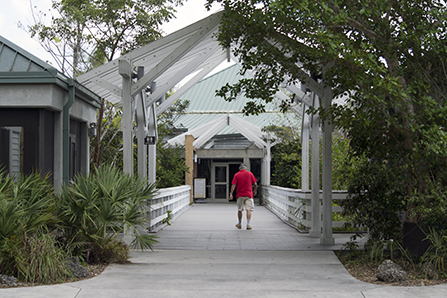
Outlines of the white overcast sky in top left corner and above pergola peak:
M 32 8 L 48 12 L 51 9 L 51 0 L 0 0 L 0 35 L 19 47 L 27 50 L 34 56 L 51 61 L 51 56 L 46 53 L 40 44 L 31 39 L 27 32 L 18 27 L 22 23 L 25 27 L 33 24 Z M 177 8 L 176 19 L 171 20 L 163 26 L 166 33 L 172 33 L 189 24 L 201 20 L 211 13 L 216 12 L 219 7 L 215 6 L 211 11 L 205 9 L 206 0 L 188 0 Z M 55 63 L 52 63 L 54 66 Z

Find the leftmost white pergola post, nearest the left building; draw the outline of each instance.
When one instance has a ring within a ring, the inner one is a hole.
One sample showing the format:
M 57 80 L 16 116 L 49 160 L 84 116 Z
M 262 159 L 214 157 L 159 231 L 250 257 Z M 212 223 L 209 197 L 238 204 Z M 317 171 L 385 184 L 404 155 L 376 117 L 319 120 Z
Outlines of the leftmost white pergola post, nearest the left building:
M 119 74 L 123 80 L 123 166 L 124 173 L 133 174 L 133 140 L 132 140 L 132 67 L 126 60 L 119 60 Z

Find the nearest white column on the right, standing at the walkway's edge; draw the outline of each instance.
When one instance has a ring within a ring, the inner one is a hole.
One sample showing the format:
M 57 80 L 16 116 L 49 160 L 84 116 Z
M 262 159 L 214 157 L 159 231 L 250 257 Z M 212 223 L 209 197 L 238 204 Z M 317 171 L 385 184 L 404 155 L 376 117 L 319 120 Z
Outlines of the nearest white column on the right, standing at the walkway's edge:
M 330 108 L 332 102 L 332 89 L 324 87 L 323 108 Z M 323 122 L 323 235 L 321 245 L 334 245 L 332 237 L 332 120 Z

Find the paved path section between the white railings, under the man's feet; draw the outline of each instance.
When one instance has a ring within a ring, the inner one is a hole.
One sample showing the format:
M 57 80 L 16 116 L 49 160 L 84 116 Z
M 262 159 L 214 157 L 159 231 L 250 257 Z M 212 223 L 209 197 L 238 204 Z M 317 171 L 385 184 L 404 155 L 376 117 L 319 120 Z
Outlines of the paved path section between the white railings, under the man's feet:
M 245 217 L 245 214 L 244 214 Z M 284 224 L 262 206 L 255 206 L 252 230 L 235 227 L 237 209 L 233 204 L 195 204 L 172 226 L 159 232 L 155 249 L 185 250 L 337 250 L 349 241 L 347 234 L 334 234 L 335 246 L 321 246 L 319 238 L 310 238 Z

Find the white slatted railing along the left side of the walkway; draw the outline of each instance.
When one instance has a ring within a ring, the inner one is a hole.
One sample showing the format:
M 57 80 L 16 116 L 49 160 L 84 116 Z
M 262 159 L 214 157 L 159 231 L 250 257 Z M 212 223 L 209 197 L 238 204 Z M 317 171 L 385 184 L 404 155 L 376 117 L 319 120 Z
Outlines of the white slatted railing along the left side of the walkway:
M 175 218 L 189 207 L 191 186 L 182 185 L 177 187 L 158 189 L 156 195 L 147 201 L 148 227 L 149 231 L 154 231 L 157 227 L 163 225 L 163 219 L 168 216 Z

